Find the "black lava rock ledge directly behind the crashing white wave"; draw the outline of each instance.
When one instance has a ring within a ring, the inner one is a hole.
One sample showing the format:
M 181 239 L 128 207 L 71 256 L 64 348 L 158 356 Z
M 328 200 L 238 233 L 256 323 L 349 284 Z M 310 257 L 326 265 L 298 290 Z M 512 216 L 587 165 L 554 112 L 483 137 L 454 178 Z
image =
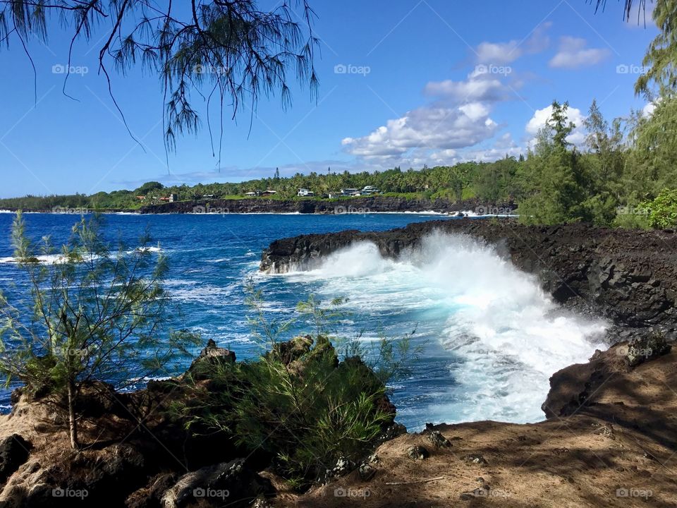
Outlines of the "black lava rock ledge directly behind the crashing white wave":
M 496 247 L 516 267 L 535 274 L 559 303 L 614 322 L 616 339 L 659 327 L 677 329 L 677 234 L 570 224 L 521 226 L 501 220 L 446 220 L 384 232 L 342 231 L 274 241 L 260 268 L 283 273 L 307 270 L 351 243 L 369 241 L 384 257 L 416 249 L 434 231 L 468 234 Z

